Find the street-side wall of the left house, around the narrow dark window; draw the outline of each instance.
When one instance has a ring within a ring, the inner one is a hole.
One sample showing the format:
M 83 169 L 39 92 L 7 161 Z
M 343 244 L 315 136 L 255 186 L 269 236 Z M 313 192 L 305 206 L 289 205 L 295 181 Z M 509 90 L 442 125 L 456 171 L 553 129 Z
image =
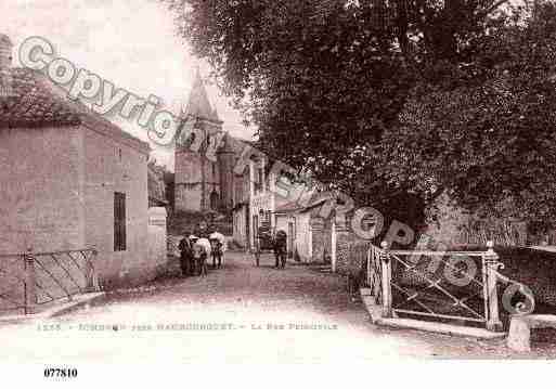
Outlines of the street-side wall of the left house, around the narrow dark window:
M 83 128 L 86 245 L 99 250 L 106 288 L 140 284 L 156 275 L 147 257 L 147 153 Z M 127 249 L 114 250 L 114 193 L 126 195 Z

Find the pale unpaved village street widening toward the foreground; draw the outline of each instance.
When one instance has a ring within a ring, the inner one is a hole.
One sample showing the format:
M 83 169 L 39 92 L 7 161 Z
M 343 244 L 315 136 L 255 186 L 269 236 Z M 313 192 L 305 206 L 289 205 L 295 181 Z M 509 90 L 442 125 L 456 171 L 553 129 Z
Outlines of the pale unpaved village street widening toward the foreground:
M 229 252 L 225 269 L 210 271 L 206 278 L 168 278 L 120 290 L 96 307 L 59 320 L 4 326 L 0 341 L 1 361 L 14 363 L 297 363 L 554 354 L 554 345 L 553 351 L 546 345 L 534 354 L 519 355 L 502 341 L 378 328 L 362 303 L 350 301 L 340 276 L 303 265 L 275 270 L 270 256 L 256 268 L 251 257 L 237 252 Z

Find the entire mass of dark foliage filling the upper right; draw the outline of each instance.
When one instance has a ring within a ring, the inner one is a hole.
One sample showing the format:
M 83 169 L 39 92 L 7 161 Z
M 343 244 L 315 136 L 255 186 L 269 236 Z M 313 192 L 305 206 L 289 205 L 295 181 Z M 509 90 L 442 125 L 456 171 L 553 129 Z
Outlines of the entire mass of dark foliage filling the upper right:
M 555 215 L 551 4 L 161 1 L 272 158 L 400 220 Z

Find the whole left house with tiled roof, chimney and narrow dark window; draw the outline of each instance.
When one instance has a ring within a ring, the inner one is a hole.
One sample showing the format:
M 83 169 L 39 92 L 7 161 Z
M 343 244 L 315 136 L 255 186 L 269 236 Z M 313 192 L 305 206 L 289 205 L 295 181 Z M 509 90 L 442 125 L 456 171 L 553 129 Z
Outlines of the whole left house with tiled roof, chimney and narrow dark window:
M 0 252 L 94 247 L 105 286 L 152 278 L 148 144 L 11 53 L 0 36 Z

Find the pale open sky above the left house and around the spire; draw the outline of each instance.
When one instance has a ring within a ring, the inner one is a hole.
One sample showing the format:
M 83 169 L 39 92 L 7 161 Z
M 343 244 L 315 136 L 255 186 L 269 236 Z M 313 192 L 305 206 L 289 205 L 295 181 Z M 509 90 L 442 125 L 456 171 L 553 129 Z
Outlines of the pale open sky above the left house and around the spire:
M 186 41 L 176 34 L 172 13 L 157 0 L 9 0 L 0 2 L 0 33 L 10 36 L 15 50 L 30 36 L 44 37 L 60 56 L 141 98 L 157 95 L 174 113 L 188 101 L 197 66 L 203 77 L 210 72 L 191 55 Z M 16 53 L 13 56 L 17 66 Z M 253 129 L 242 125 L 231 100 L 216 86 L 207 86 L 207 91 L 223 129 L 251 139 Z M 148 141 L 132 120 L 117 125 Z M 152 156 L 173 169 L 173 151 L 151 146 Z

